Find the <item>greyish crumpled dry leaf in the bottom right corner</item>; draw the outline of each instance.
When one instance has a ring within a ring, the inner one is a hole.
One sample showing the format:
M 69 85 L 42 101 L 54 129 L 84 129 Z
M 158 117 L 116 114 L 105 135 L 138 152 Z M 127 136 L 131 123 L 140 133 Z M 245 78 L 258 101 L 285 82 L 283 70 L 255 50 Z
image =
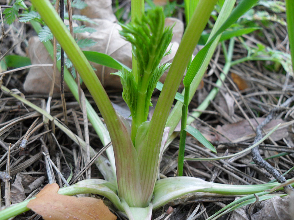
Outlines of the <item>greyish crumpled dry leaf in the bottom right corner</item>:
M 254 220 L 290 220 L 289 215 L 290 196 L 275 196 L 271 199 L 261 201 L 255 205 L 260 210 L 252 214 Z

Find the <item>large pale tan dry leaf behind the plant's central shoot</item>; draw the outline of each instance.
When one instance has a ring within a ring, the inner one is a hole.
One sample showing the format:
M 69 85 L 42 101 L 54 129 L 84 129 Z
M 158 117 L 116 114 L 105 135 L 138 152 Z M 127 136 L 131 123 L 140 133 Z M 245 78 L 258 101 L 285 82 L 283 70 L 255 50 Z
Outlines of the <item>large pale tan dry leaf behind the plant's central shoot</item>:
M 168 50 L 171 45 L 171 53 L 161 60 L 162 64 L 167 62 L 172 62 L 173 57 L 178 50 L 179 43 L 177 41 L 181 40 L 181 36 L 183 34 L 183 23 L 176 18 L 166 18 L 168 20 L 168 25 L 175 24 L 175 38 L 173 42 L 168 46 Z M 121 29 L 121 26 L 117 23 L 113 23 L 109 20 L 105 19 L 93 19 L 97 24 L 87 23 L 87 26 L 96 29 L 94 33 L 80 33 L 78 38 L 91 38 L 97 43 L 92 47 L 86 48 L 84 50 L 92 50 L 100 53 L 106 53 L 110 55 L 114 59 L 123 63 L 124 65 L 131 68 L 132 66 L 132 53 L 131 53 L 131 43 L 122 39 L 118 33 L 118 30 Z M 38 40 L 37 37 L 33 37 L 29 40 L 29 57 L 31 59 L 32 64 L 51 64 L 53 63 L 47 50 L 44 45 Z M 93 67 L 96 68 L 96 75 L 100 79 L 101 83 L 104 87 L 112 87 L 112 88 L 122 88 L 121 79 L 119 76 L 111 75 L 113 72 L 117 72 L 117 70 L 104 67 L 97 63 L 91 63 Z M 49 93 L 50 84 L 52 81 L 52 67 L 35 67 L 31 68 L 28 75 L 26 76 L 26 80 L 24 82 L 24 89 L 29 93 Z M 163 82 L 166 77 L 167 71 L 163 74 L 160 81 Z M 56 80 L 55 80 L 55 88 L 54 93 L 59 93 L 60 91 L 60 72 L 56 72 Z M 65 84 L 65 91 L 68 91 L 68 87 Z

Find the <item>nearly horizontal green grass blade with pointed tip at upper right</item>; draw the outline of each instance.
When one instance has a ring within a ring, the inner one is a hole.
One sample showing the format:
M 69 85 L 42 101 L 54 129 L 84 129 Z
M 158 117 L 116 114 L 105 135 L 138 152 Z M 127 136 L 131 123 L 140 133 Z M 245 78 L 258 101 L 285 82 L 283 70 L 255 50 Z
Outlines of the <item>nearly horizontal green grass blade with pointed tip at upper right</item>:
M 219 41 L 223 41 L 223 40 L 228 40 L 230 38 L 233 37 L 238 37 L 244 34 L 248 34 L 251 33 L 253 31 L 256 30 L 260 30 L 260 28 L 242 28 L 242 29 L 238 29 L 238 30 L 233 30 L 233 31 L 225 31 L 222 33 L 220 40 Z M 209 37 L 209 34 L 203 34 L 201 35 L 201 38 L 198 42 L 199 45 L 205 45 L 205 43 L 207 42 Z

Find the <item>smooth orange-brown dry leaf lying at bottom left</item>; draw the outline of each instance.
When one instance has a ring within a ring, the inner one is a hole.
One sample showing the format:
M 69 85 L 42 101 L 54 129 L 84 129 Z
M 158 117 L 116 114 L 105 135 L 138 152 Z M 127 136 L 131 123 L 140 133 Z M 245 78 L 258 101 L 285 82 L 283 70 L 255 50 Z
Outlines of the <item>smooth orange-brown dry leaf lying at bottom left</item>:
M 27 207 L 45 220 L 115 220 L 101 199 L 72 197 L 58 194 L 56 183 L 46 185 Z

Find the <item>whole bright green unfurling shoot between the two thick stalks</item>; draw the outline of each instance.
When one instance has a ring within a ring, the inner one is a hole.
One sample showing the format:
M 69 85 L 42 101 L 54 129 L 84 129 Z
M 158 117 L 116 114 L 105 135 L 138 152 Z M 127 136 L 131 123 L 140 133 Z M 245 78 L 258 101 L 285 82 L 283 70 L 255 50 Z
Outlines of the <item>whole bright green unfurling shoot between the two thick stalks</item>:
M 141 19 L 135 19 L 133 23 L 123 25 L 121 36 L 133 45 L 133 54 L 138 62 L 138 75 L 132 71 L 123 69 L 114 73 L 121 77 L 123 85 L 123 98 L 130 108 L 131 115 L 137 116 L 137 94 L 145 94 L 142 103 L 144 119 L 138 121 L 138 126 L 147 120 L 151 95 L 156 83 L 167 70 L 169 64 L 159 65 L 163 56 L 167 55 L 166 49 L 171 42 L 172 28 L 164 28 L 164 15 L 161 8 L 156 8 L 143 15 Z M 136 94 L 136 95 L 135 95 Z

